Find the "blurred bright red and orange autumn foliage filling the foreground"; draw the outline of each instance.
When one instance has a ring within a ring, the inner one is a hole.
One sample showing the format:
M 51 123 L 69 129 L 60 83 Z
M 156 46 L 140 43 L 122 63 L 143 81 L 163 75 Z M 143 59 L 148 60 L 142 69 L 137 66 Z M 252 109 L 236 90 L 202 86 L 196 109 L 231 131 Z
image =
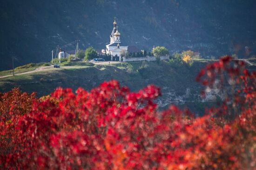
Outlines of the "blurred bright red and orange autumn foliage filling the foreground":
M 200 118 L 175 105 L 157 111 L 154 85 L 130 92 L 115 80 L 43 99 L 0 94 L 0 169 L 253 170 L 256 73 L 226 57 L 196 80 L 227 91 Z

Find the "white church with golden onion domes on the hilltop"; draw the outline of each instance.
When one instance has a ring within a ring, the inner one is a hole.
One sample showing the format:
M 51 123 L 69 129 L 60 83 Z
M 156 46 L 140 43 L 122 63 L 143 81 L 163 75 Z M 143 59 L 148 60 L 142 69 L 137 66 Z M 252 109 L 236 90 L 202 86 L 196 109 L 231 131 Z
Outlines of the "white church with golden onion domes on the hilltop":
M 117 30 L 117 23 L 114 21 L 114 28 L 110 34 L 110 44 L 106 45 L 106 54 L 111 55 L 112 61 L 120 60 L 121 54 L 125 54 L 128 46 L 122 45 L 120 41 L 120 33 Z

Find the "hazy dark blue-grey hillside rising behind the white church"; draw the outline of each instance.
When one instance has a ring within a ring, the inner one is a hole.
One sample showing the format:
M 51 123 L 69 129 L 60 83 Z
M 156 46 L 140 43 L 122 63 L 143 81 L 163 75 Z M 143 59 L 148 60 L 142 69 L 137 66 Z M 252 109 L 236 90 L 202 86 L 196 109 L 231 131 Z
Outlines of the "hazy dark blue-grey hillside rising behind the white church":
M 256 53 L 254 0 L 5 0 L 0 9 L 0 70 L 12 67 L 12 55 L 15 66 L 49 61 L 57 45 L 77 39 L 81 49 L 103 49 L 114 17 L 121 41 L 143 49 Z

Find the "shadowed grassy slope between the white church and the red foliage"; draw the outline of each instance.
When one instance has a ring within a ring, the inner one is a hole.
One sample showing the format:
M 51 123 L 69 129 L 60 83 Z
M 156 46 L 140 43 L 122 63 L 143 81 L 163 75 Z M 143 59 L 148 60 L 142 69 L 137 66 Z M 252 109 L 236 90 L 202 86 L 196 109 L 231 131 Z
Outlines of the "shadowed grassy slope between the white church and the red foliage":
M 0 92 L 19 87 L 24 92 L 37 92 L 38 96 L 50 94 L 61 86 L 76 90 L 83 87 L 91 90 L 104 81 L 118 80 L 121 85 L 137 91 L 149 84 L 162 89 L 162 97 L 157 100 L 161 108 L 170 104 L 188 106 L 192 111 L 202 114 L 203 105 L 211 105 L 211 96 L 200 98 L 201 86 L 195 82 L 197 73 L 210 60 L 195 60 L 192 66 L 186 64 L 156 62 L 132 62 L 115 65 L 88 65 L 65 69 L 23 74 L 0 78 Z M 255 62 L 255 61 L 253 61 Z M 255 63 L 249 69 L 256 70 Z M 213 94 L 216 95 L 216 94 Z

